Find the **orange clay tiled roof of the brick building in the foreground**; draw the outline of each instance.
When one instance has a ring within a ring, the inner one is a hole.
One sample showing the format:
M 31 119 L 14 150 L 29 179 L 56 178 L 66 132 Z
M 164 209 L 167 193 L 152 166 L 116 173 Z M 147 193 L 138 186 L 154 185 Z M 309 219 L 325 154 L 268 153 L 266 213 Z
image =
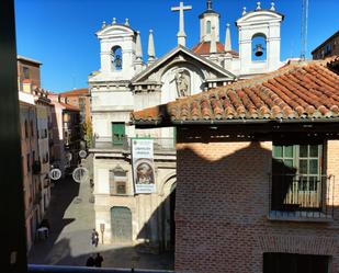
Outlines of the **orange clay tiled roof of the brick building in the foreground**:
M 256 78 L 132 113 L 137 125 L 339 116 L 339 56 L 291 62 Z

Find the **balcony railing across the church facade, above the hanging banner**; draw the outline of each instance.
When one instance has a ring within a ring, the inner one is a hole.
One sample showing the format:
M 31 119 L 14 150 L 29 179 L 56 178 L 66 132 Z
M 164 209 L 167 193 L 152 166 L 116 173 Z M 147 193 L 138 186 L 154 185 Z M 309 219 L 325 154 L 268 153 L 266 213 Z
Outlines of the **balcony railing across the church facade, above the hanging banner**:
M 99 137 L 93 138 L 92 147 L 93 149 L 118 149 L 118 150 L 131 150 L 131 137 L 124 137 L 121 144 L 115 144 L 112 140 L 112 137 Z M 174 138 L 154 138 L 154 149 L 156 151 L 167 150 L 167 151 L 174 151 L 176 150 L 176 139 Z

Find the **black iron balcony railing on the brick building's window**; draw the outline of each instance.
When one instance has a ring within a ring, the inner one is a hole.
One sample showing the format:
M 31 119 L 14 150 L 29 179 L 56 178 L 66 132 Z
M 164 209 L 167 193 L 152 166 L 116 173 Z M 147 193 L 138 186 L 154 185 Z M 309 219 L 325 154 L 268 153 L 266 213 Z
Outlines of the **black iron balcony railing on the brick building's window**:
M 324 220 L 334 218 L 334 175 L 273 174 L 270 177 L 270 217 Z

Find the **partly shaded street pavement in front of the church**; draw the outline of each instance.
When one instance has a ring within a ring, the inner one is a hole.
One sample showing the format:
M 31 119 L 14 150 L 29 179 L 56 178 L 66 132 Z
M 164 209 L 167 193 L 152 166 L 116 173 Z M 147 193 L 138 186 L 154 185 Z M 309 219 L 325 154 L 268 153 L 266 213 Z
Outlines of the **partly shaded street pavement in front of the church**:
M 100 252 L 104 268 L 173 269 L 170 253 L 140 253 L 133 246 L 93 247 L 90 238 L 94 208 L 90 197 L 89 182 L 78 184 L 68 177 L 55 183 L 46 214 L 50 224 L 49 237 L 36 240 L 29 253 L 29 263 L 83 266 L 90 254 Z

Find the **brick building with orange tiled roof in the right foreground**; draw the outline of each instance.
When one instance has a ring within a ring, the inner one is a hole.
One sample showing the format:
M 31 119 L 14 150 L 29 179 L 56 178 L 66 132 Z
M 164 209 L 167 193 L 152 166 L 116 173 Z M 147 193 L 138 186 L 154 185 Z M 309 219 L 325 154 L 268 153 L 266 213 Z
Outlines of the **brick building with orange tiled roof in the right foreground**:
M 177 127 L 176 272 L 339 272 L 338 64 L 132 114 Z

